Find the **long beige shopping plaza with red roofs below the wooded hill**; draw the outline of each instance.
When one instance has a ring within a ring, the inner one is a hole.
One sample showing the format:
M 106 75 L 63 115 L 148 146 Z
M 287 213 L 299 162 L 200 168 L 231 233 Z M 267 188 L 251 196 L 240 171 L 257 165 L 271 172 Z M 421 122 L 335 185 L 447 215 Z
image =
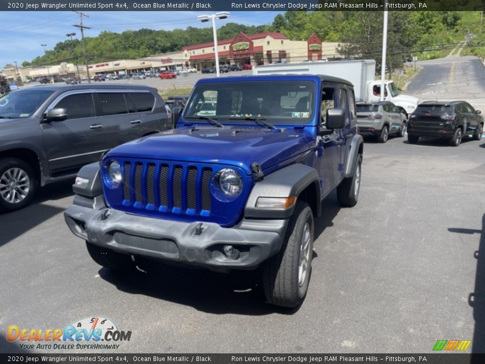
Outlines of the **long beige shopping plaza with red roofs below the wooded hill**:
M 306 40 L 288 39 L 284 34 L 265 32 L 246 35 L 243 32 L 234 38 L 218 41 L 219 63 L 251 64 L 253 66 L 271 63 L 298 63 L 305 60 L 319 61 L 338 57 L 338 43 L 323 42 L 313 33 Z M 193 44 L 179 52 L 164 53 L 135 60 L 107 61 L 88 65 L 90 75 L 125 74 L 146 71 L 176 70 L 194 67 L 202 70 L 215 66 L 214 42 Z M 86 67 L 73 63 L 40 67 L 7 66 L 0 74 L 15 79 L 18 74 L 22 79 L 49 76 L 86 75 Z

